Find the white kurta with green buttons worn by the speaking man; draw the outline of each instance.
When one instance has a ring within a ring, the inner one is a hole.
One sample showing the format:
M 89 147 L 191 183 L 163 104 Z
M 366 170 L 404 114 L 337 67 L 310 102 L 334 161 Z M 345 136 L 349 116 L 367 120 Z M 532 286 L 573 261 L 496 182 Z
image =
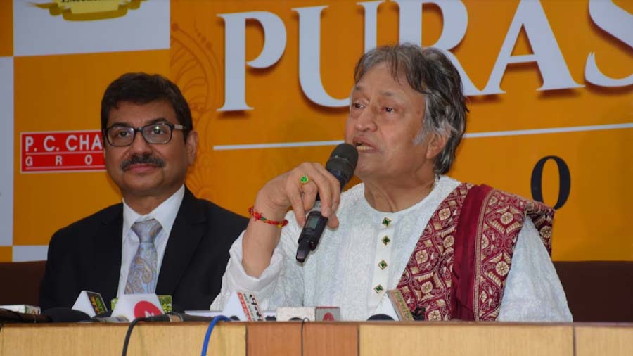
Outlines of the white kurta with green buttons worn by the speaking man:
M 344 320 L 366 320 L 385 291 L 396 288 L 431 215 L 459 184 L 442 176 L 426 198 L 399 212 L 371 208 L 364 184 L 352 187 L 341 196 L 339 227 L 326 228 L 303 265 L 295 260 L 301 228 L 290 211 L 271 263 L 259 278 L 248 276 L 241 264 L 242 234 L 231 246 L 222 291 L 211 309 L 222 310 L 232 291 L 249 291 L 256 293 L 264 310 L 333 305 L 340 307 Z M 391 220 L 388 227 L 385 217 Z M 382 288 L 376 288 L 379 285 Z M 572 320 L 554 265 L 529 218 L 518 235 L 498 319 Z

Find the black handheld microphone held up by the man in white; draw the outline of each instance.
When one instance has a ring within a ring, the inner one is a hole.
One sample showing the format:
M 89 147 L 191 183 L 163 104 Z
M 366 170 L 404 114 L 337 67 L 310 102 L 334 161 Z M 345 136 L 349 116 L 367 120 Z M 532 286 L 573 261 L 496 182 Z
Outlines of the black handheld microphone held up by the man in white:
M 345 184 L 350 182 L 357 162 L 358 151 L 356 147 L 350 144 L 340 144 L 332 151 L 326 163 L 326 170 L 338 179 L 341 191 L 343 191 Z M 319 239 L 321 239 L 321 235 L 328 223 L 328 218 L 321 215 L 320 208 L 321 204 L 317 195 L 316 205 L 307 215 L 305 225 L 299 235 L 299 247 L 297 248 L 296 256 L 299 262 L 304 262 L 308 253 L 313 251 L 319 244 Z

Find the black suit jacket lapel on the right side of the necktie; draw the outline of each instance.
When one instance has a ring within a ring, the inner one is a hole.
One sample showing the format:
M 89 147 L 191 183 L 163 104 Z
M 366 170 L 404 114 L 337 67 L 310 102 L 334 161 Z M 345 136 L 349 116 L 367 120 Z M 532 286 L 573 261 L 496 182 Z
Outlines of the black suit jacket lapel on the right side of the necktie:
M 205 215 L 195 196 L 185 188 L 178 215 L 167 241 L 165 255 L 162 258 L 158 274 L 157 294 L 173 295 L 176 286 L 185 272 L 200 239 L 203 236 Z

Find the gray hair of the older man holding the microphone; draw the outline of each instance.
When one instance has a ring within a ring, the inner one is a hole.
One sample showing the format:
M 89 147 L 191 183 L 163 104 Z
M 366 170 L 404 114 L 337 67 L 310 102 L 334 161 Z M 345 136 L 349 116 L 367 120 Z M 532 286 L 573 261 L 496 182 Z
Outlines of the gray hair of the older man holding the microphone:
M 422 130 L 414 144 L 421 143 L 429 133 L 447 137 L 446 146 L 435 157 L 434 163 L 435 173 L 445 174 L 453 164 L 455 151 L 466 130 L 468 108 L 459 72 L 439 49 L 395 44 L 379 46 L 365 53 L 356 64 L 354 83 L 358 84 L 373 66 L 385 62 L 390 65 L 394 80 L 397 81 L 399 72 L 403 71 L 411 88 L 424 96 L 426 109 Z

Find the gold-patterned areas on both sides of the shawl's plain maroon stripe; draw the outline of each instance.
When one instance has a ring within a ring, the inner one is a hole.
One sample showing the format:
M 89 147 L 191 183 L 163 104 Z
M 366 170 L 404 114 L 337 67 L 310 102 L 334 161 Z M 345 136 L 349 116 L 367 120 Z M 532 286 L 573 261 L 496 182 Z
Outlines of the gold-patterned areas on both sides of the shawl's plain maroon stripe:
M 461 184 L 440 203 L 424 229 L 397 288 L 412 312 L 425 309 L 426 320 L 449 320 L 452 316 L 452 271 L 454 237 L 463 202 L 473 184 Z M 475 235 L 475 320 L 495 320 L 506 276 L 523 219 L 528 215 L 551 253 L 554 210 L 492 189 L 481 205 Z M 477 238 L 478 237 L 478 238 Z

